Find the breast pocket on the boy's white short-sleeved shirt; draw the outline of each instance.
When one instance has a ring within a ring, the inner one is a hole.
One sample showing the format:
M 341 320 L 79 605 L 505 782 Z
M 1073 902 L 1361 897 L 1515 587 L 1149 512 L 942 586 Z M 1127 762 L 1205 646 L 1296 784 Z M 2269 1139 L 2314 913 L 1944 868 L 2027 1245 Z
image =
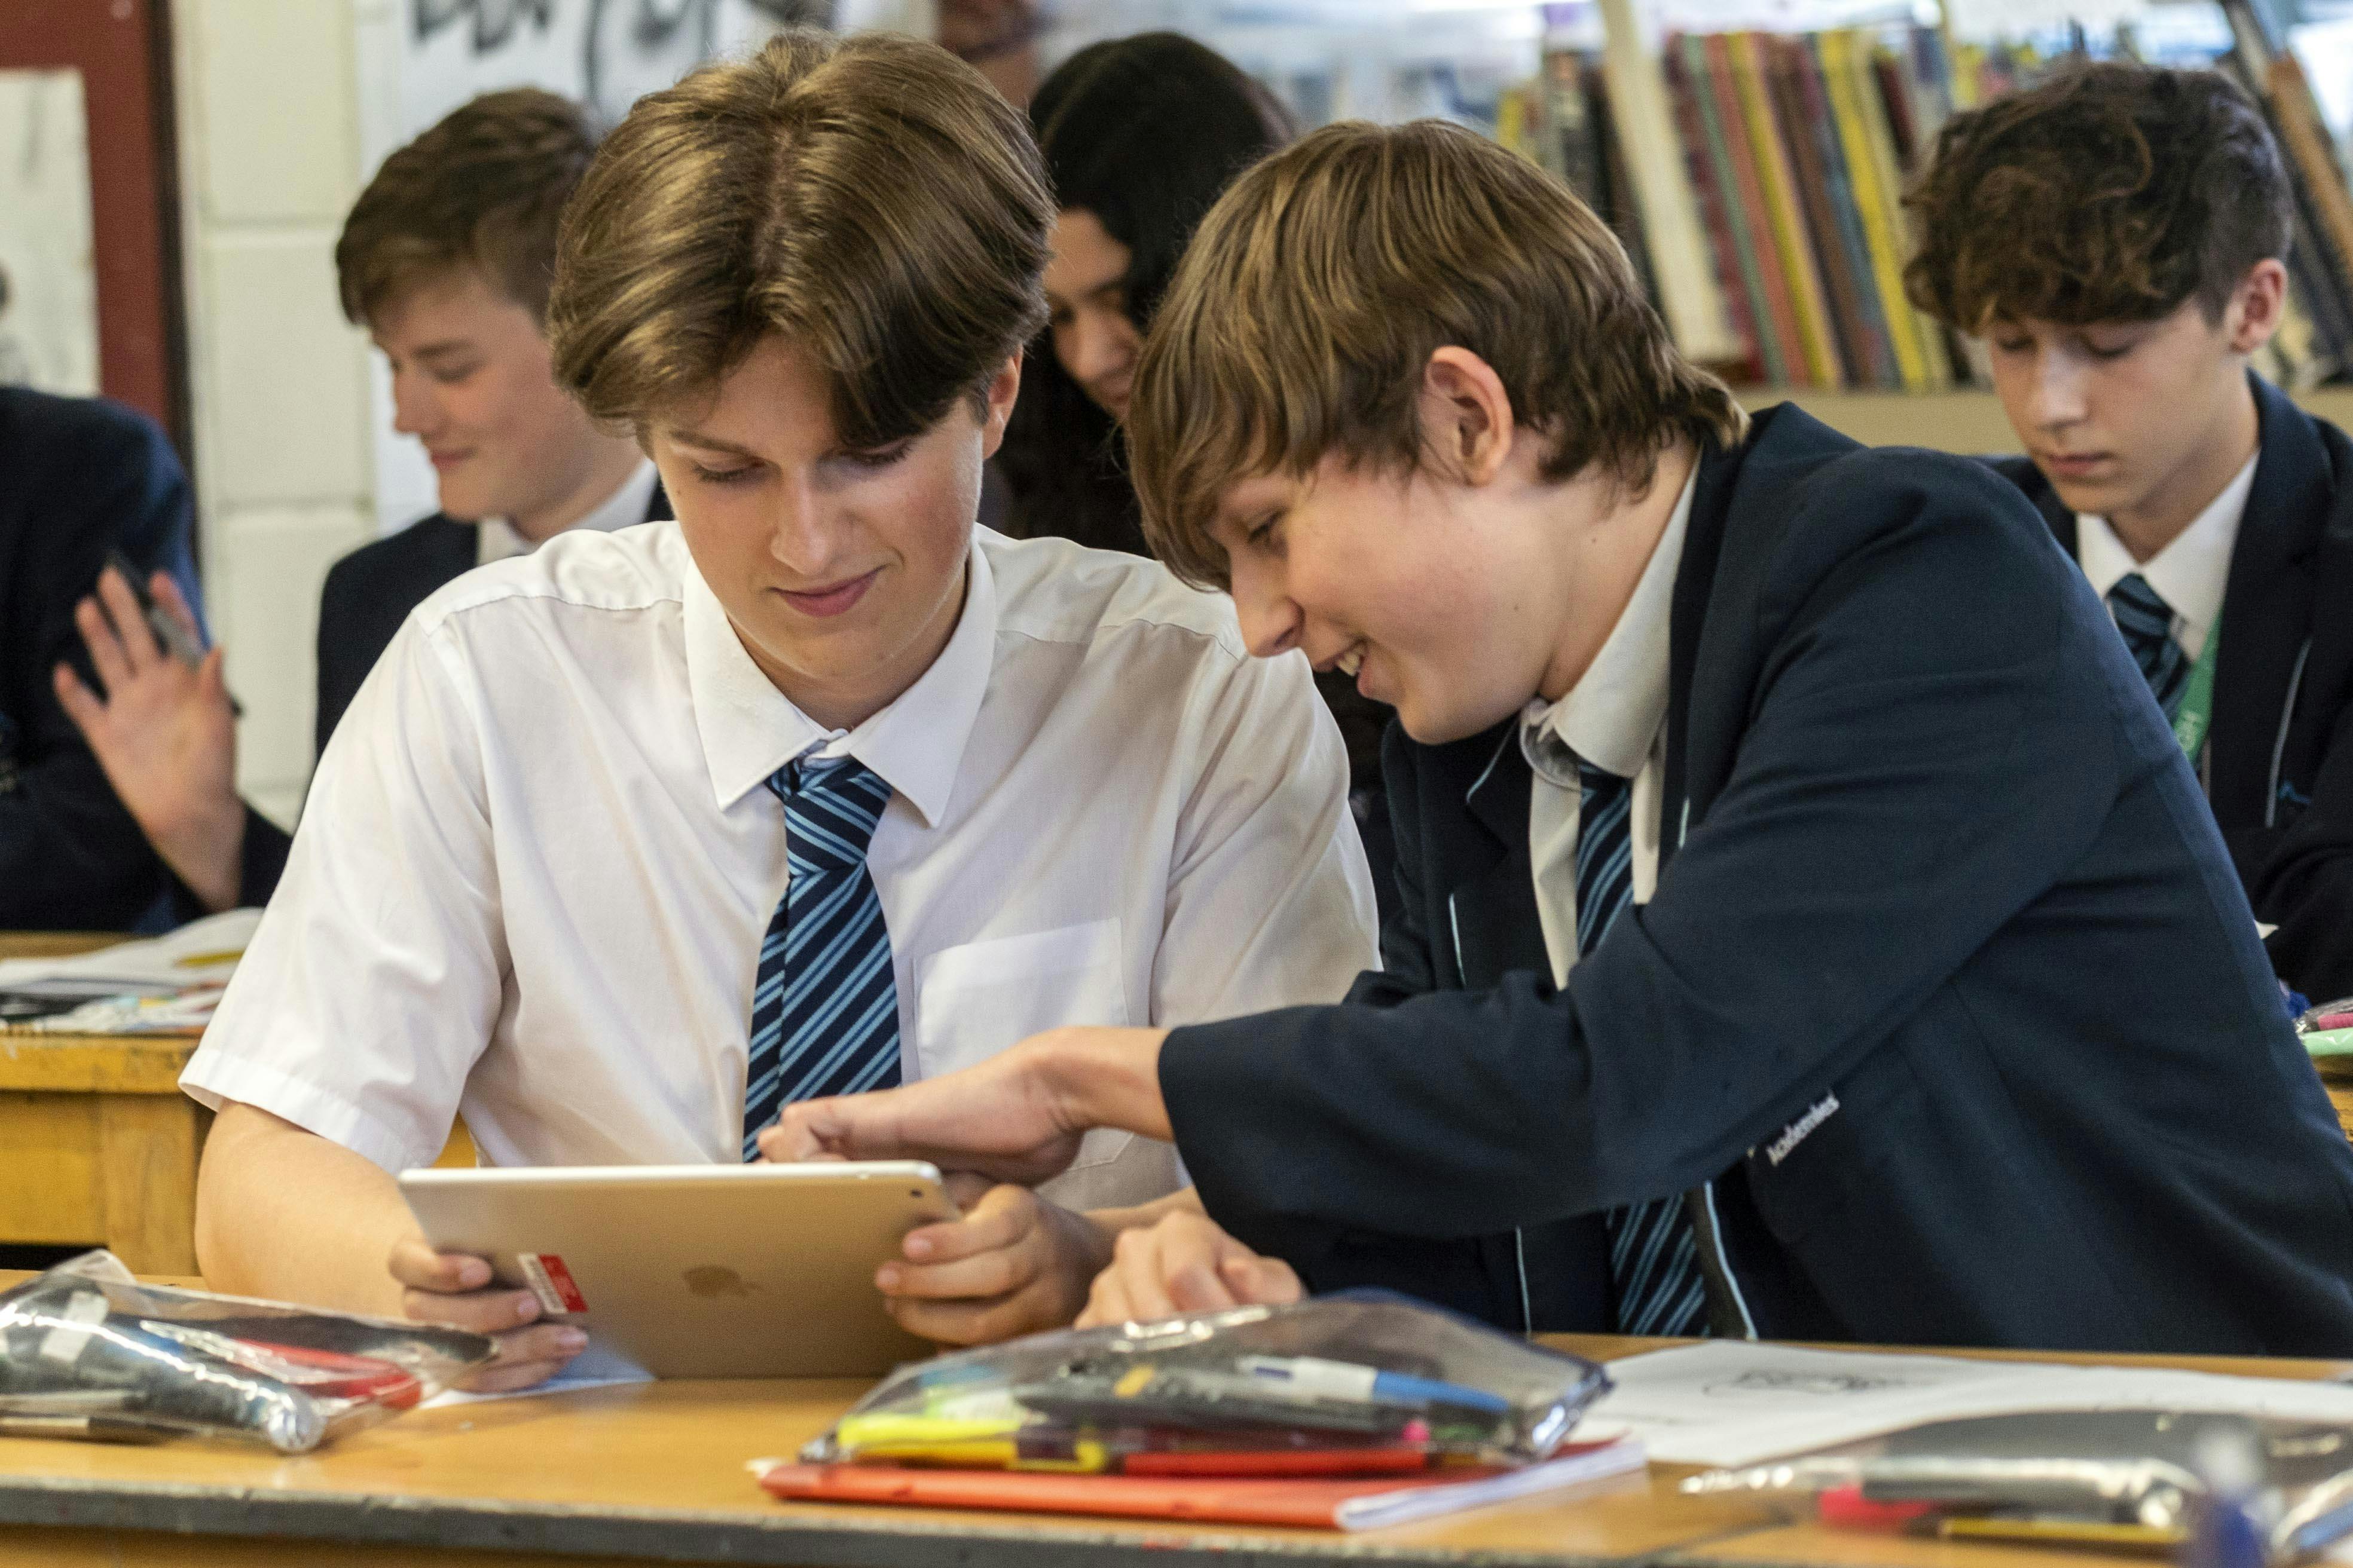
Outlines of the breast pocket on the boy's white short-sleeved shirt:
M 1127 1025 L 1120 919 L 1000 936 L 915 959 L 915 1060 L 936 1079 L 1031 1034 L 1073 1023 Z M 1120 1157 L 1134 1133 L 1094 1128 L 1073 1171 Z

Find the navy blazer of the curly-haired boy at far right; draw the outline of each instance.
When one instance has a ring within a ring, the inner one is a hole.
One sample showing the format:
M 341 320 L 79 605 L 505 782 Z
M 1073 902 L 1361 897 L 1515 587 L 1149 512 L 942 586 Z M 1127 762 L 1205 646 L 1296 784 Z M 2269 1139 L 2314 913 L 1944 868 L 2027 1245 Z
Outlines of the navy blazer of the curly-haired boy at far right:
M 2214 656 L 2207 804 L 2271 964 L 2313 1001 L 2353 994 L 2353 442 L 2249 374 L 2261 449 Z M 1998 458 L 2059 545 L 2075 512 Z

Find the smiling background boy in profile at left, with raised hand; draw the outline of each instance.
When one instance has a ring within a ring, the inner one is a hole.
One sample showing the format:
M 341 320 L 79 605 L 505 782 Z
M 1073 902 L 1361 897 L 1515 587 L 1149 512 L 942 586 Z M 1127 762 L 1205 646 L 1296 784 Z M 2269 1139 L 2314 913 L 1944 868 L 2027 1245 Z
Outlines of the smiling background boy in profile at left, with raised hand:
M 598 428 L 548 369 L 555 226 L 593 155 L 595 132 L 567 99 L 529 87 L 485 94 L 386 158 L 344 219 L 334 247 L 344 313 L 391 362 L 393 423 L 433 458 L 442 510 L 327 571 L 320 755 L 393 632 L 435 588 L 565 529 L 671 515 L 635 437 Z M 167 583 L 155 595 L 188 621 Z M 176 872 L 181 919 L 268 903 L 289 839 L 238 799 L 219 649 L 191 670 L 122 618 L 96 621 L 92 639 L 92 656 L 120 679 L 99 696 L 59 670 L 59 698 Z

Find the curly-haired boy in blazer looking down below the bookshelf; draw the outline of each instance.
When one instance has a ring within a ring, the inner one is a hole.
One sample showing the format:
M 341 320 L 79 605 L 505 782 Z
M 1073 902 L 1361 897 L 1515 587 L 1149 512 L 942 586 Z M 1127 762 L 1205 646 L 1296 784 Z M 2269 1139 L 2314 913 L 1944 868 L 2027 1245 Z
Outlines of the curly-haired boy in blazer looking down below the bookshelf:
M 2353 442 L 2247 369 L 2294 195 L 2209 71 L 2099 63 L 1955 115 L 1911 193 L 1913 301 L 1979 334 L 2000 461 L 2104 595 L 2273 969 L 2353 992 Z

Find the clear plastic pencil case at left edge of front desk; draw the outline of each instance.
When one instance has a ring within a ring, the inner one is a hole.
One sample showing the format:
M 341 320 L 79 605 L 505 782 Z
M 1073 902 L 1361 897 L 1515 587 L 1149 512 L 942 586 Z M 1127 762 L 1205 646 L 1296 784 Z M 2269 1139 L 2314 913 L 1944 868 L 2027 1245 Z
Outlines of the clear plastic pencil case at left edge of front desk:
M 492 1356 L 478 1333 L 144 1286 L 82 1253 L 0 1295 L 0 1434 L 308 1453 Z

